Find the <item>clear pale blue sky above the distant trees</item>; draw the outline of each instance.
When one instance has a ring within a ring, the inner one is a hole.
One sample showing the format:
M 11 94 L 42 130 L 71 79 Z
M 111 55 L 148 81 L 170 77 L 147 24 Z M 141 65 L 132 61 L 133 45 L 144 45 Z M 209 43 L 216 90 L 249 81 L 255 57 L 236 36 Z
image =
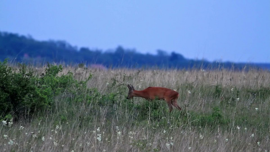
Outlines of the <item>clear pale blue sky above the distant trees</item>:
M 270 1 L 0 1 L 0 31 L 72 46 L 270 62 Z

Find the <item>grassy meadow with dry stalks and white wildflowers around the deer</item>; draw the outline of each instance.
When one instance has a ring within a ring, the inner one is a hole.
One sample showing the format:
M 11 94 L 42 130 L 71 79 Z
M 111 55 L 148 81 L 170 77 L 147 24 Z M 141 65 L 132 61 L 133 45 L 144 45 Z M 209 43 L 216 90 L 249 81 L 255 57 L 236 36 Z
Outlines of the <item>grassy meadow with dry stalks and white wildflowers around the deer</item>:
M 25 70 L 40 78 L 46 67 Z M 71 75 L 63 79 L 70 85 L 51 90 L 46 108 L 31 117 L 2 118 L 1 151 L 270 151 L 269 71 L 74 65 L 50 81 L 61 75 Z M 176 90 L 182 111 L 169 113 L 163 100 L 128 100 L 127 84 Z

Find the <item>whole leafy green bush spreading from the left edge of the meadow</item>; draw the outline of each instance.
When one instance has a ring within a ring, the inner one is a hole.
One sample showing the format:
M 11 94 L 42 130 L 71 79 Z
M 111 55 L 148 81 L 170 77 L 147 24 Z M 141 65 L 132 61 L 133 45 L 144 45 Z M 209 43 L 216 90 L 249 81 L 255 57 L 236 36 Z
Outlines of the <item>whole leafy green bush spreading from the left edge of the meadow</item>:
M 49 109 L 55 97 L 61 93 L 83 94 L 82 91 L 88 90 L 86 83 L 91 77 L 78 82 L 71 72 L 58 76 L 62 71 L 61 65 L 48 63 L 45 74 L 40 77 L 34 75 L 32 70 L 26 71 L 26 68 L 26 65 L 19 64 L 19 72 L 15 72 L 8 66 L 8 60 L 0 62 L 0 120 L 8 115 L 15 120 L 29 118 Z

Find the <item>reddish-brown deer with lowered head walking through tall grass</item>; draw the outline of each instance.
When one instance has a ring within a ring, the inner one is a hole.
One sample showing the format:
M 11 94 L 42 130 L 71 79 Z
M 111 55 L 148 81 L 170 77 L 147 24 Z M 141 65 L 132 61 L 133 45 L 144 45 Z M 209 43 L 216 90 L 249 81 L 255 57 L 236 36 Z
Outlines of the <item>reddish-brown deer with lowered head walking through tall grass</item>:
M 175 106 L 178 110 L 181 110 L 180 106 L 177 104 L 179 93 L 174 90 L 162 87 L 148 87 L 144 90 L 138 91 L 135 90 L 132 85 L 128 85 L 128 88 L 129 94 L 127 99 L 131 99 L 133 97 L 142 97 L 148 101 L 154 99 L 165 100 L 169 106 L 170 112 L 172 111 L 173 106 Z

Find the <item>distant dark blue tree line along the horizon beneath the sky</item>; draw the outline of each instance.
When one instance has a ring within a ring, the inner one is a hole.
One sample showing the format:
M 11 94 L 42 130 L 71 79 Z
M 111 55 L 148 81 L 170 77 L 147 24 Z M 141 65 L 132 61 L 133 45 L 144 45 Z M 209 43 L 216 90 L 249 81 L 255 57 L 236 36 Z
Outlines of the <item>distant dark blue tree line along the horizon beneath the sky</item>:
M 209 62 L 206 60 L 186 59 L 181 54 L 157 50 L 157 55 L 142 54 L 132 49 L 119 46 L 114 50 L 91 50 L 86 47 L 71 46 L 65 41 L 36 41 L 31 36 L 19 35 L 0 31 L 0 60 L 6 58 L 16 62 L 31 64 L 84 63 L 100 64 L 105 67 L 118 68 L 235 68 L 242 69 L 250 66 L 270 69 L 270 64 L 247 64 L 232 62 Z

